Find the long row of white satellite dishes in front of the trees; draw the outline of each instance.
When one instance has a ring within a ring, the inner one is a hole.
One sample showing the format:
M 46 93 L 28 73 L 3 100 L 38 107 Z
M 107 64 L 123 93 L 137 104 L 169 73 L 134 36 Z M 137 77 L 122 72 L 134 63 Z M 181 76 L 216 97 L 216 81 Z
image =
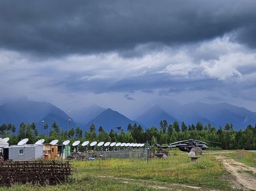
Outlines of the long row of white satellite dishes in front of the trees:
M 9 141 L 9 137 L 3 138 L 3 140 L 6 142 Z M 18 142 L 18 145 L 24 145 L 24 144 L 26 144 L 27 141 L 28 141 L 28 138 L 22 139 L 20 142 Z M 34 145 L 41 145 L 41 144 L 43 144 L 44 141 L 45 141 L 44 139 L 40 139 L 40 140 L 36 141 Z M 70 142 L 70 140 L 65 140 L 62 142 L 62 145 L 68 145 L 69 142 Z M 73 142 L 72 146 L 77 146 L 80 144 L 80 142 L 81 142 L 80 140 L 77 140 L 77 141 Z M 51 141 L 49 144 L 56 145 L 57 143 L 58 143 L 58 140 L 55 139 L 55 140 Z M 89 144 L 89 141 L 84 141 L 82 143 L 82 146 L 88 146 L 88 144 Z M 112 142 L 112 143 L 105 142 L 105 144 L 104 144 L 103 141 L 99 142 L 98 144 L 97 144 L 97 141 L 93 141 L 90 144 L 91 147 L 96 146 L 96 145 L 98 147 L 102 147 L 102 146 L 104 146 L 104 147 L 144 147 L 145 144 L 144 143 L 142 143 L 142 144 L 140 144 L 140 143 L 125 143 L 125 142 L 117 142 L 117 143 L 116 142 Z

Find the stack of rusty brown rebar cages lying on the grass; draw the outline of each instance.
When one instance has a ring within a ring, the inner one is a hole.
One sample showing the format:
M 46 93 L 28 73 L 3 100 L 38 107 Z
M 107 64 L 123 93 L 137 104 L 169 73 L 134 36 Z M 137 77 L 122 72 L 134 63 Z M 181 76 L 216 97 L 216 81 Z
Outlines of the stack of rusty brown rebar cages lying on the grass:
M 70 161 L 15 161 L 0 162 L 0 186 L 14 183 L 56 185 L 68 180 L 74 167 Z

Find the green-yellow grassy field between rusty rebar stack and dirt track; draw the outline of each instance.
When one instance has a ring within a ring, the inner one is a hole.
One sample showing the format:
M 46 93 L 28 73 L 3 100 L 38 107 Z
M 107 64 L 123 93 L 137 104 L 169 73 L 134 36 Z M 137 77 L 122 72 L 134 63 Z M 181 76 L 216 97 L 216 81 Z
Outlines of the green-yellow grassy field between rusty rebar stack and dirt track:
M 250 160 L 251 154 L 237 156 L 237 151 L 207 151 L 196 163 L 187 153 L 171 151 L 163 160 L 105 159 L 74 161 L 75 174 L 70 181 L 57 186 L 13 185 L 1 191 L 151 191 L 151 190 L 235 190 L 230 185 L 221 163 L 214 155 Z M 255 153 L 253 153 L 255 154 Z M 255 157 L 254 157 L 255 159 Z M 255 162 L 254 162 L 255 164 Z

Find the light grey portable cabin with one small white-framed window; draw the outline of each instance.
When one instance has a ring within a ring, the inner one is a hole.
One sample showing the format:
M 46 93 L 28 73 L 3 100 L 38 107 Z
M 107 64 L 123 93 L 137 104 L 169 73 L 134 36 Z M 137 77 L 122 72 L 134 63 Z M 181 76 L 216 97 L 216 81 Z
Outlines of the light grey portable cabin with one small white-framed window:
M 33 161 L 43 158 L 43 145 L 16 145 L 4 147 L 4 160 Z

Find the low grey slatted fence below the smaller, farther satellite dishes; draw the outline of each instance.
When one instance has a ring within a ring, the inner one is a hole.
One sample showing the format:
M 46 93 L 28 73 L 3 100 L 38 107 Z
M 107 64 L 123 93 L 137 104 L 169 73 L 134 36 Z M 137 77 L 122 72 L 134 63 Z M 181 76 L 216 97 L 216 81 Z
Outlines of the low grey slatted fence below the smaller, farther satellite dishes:
M 95 158 L 147 159 L 147 150 L 93 151 Z

